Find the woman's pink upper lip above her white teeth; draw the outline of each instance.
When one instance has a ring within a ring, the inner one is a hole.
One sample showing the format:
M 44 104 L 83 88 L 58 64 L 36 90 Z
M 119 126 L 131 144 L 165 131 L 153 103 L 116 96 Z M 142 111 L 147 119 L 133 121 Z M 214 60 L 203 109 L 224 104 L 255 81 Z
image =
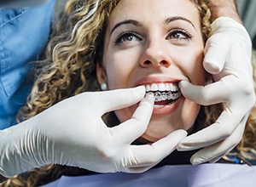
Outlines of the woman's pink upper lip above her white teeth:
M 180 80 L 177 80 L 173 77 L 143 77 L 137 82 L 134 83 L 133 87 L 141 86 L 141 85 L 147 85 L 152 83 L 176 83 L 180 82 Z

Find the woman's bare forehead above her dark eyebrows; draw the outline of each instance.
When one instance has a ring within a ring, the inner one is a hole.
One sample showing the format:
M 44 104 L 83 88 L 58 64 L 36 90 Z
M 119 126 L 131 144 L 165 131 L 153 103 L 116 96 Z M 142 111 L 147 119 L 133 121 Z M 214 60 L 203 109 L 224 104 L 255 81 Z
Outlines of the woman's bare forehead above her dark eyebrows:
M 129 19 L 165 20 L 172 16 L 183 16 L 201 26 L 199 11 L 191 0 L 121 0 L 113 8 L 108 24 Z

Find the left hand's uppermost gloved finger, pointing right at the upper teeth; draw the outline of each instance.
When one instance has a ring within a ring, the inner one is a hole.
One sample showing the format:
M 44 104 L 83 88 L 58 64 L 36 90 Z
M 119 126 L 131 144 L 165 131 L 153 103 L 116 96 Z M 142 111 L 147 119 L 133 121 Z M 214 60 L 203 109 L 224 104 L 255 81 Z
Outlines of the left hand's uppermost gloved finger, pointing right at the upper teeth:
M 95 95 L 97 111 L 100 115 L 138 103 L 146 91 L 143 86 L 99 92 Z M 95 104 L 94 104 L 95 105 Z

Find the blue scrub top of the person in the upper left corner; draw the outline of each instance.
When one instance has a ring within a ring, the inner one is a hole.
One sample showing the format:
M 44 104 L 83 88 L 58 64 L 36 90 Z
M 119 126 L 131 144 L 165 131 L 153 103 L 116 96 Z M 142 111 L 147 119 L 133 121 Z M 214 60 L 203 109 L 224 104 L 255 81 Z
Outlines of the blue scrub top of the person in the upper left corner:
M 29 62 L 38 59 L 49 39 L 55 0 L 33 8 L 0 8 L 0 129 L 16 124 L 26 102 Z

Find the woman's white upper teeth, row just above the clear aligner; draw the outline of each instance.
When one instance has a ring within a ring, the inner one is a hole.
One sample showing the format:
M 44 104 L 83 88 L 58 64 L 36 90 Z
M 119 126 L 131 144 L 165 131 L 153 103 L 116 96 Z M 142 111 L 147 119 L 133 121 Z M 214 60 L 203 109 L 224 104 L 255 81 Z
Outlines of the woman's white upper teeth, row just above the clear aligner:
M 177 92 L 179 91 L 179 88 L 177 85 L 173 83 L 153 83 L 153 84 L 148 84 L 145 85 L 146 91 L 147 92 L 154 92 L 154 91 L 172 91 L 172 92 Z

